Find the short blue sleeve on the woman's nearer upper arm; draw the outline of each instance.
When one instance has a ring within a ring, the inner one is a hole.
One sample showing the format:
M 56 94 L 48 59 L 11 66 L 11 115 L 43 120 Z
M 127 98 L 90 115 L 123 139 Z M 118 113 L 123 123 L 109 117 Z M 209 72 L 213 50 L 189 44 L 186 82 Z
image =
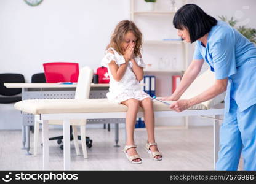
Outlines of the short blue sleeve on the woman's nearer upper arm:
M 212 45 L 210 54 L 214 63 L 216 79 L 225 79 L 236 73 L 233 39 L 217 40 Z

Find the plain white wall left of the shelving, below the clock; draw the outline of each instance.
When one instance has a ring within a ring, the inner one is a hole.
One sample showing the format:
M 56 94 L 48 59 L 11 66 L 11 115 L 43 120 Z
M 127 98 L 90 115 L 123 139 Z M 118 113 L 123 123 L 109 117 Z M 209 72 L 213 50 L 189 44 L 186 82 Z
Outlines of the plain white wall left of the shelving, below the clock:
M 20 72 L 30 82 L 48 61 L 96 69 L 114 26 L 129 18 L 127 7 L 127 0 L 44 0 L 36 7 L 1 0 L 0 72 Z

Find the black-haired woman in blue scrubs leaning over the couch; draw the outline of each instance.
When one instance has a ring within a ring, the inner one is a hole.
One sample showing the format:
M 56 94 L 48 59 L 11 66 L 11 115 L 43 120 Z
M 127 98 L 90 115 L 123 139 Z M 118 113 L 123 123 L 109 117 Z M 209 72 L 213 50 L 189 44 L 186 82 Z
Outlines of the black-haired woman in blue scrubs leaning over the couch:
M 193 61 L 177 90 L 163 100 L 176 101 L 170 109 L 182 112 L 226 91 L 225 116 L 220 128 L 217 170 L 237 170 L 240 155 L 245 170 L 256 170 L 256 48 L 223 21 L 207 15 L 195 4 L 175 13 L 174 26 L 186 42 L 196 41 Z M 196 79 L 206 61 L 215 84 L 191 99 L 180 96 Z

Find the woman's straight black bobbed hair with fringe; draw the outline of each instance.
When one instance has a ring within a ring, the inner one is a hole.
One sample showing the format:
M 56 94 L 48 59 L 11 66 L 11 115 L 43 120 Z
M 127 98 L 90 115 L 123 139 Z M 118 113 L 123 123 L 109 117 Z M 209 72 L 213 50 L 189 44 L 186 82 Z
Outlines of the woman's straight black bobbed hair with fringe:
M 174 15 L 173 20 L 176 29 L 187 29 L 190 34 L 190 42 L 198 40 L 217 24 L 217 20 L 207 15 L 196 4 L 185 4 Z

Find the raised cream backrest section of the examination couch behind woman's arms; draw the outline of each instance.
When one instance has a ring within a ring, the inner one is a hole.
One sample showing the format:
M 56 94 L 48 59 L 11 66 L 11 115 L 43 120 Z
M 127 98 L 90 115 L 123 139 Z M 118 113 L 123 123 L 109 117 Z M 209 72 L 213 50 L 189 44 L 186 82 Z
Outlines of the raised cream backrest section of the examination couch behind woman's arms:
M 189 98 L 193 98 L 194 96 L 197 96 L 198 94 L 201 94 L 203 91 L 210 88 L 210 86 L 214 85 L 215 80 L 216 79 L 215 79 L 214 72 L 208 69 L 207 71 L 199 75 L 194 80 L 193 83 L 191 83 L 191 85 L 188 87 L 185 93 L 182 94 L 180 99 L 189 99 Z M 206 105 L 206 107 L 209 109 L 214 105 L 220 104 L 220 102 L 222 102 L 224 99 L 225 99 L 225 93 L 222 93 L 213 99 L 209 99 L 209 101 L 202 102 L 202 104 Z

